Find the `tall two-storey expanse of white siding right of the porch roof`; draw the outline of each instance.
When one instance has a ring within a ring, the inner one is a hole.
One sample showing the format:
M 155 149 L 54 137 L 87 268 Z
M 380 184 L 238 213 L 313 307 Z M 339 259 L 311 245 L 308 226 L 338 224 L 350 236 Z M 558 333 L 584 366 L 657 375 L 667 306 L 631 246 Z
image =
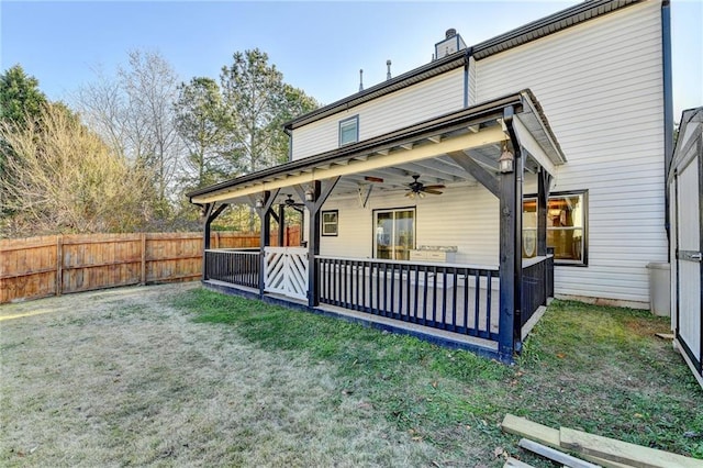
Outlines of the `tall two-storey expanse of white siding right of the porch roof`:
M 644 2 L 476 63 L 477 101 L 529 88 L 568 163 L 553 191 L 589 191 L 589 266 L 558 294 L 646 307 L 667 261 L 659 2 Z

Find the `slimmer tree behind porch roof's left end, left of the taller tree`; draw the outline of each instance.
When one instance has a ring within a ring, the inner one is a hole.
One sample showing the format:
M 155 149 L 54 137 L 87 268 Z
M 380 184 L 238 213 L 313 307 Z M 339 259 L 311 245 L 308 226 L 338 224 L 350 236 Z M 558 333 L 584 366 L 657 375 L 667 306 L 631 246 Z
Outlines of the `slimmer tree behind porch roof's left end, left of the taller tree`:
M 233 119 L 212 78 L 192 78 L 178 90 L 176 130 L 188 147 L 182 178 L 183 189 L 188 191 L 217 182 L 235 171 L 225 157 Z

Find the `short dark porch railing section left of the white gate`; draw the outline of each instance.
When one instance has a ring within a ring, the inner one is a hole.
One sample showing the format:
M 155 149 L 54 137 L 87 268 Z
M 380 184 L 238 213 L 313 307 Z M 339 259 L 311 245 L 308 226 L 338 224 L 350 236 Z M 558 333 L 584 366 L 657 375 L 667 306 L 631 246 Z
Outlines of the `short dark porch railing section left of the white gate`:
M 258 248 L 205 250 L 205 279 L 258 288 L 260 269 Z

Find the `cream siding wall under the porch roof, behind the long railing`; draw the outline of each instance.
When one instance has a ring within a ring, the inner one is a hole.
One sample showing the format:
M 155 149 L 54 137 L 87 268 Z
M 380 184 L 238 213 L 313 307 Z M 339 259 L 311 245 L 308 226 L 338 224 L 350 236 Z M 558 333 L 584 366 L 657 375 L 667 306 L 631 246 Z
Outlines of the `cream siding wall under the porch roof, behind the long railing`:
M 448 187 L 442 196 L 410 200 L 403 192 L 372 193 L 367 208 L 357 199 L 331 200 L 323 210 L 339 210 L 339 235 L 322 237 L 321 254 L 373 256 L 372 210 L 415 208 L 415 245 L 458 247 L 456 261 L 498 265 L 498 199 L 483 187 Z

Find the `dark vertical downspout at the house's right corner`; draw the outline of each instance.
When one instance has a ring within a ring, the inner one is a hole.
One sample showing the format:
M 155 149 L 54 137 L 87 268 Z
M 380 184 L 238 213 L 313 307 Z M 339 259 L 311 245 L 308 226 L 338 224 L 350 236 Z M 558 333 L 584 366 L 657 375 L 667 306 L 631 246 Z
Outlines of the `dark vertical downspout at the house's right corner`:
M 665 230 L 667 239 L 671 242 L 671 220 L 669 218 L 669 190 L 667 179 L 673 158 L 673 93 L 671 79 L 671 5 L 669 0 L 661 2 L 661 60 L 663 81 L 663 186 L 665 186 Z M 667 255 L 671 261 L 671 248 Z

